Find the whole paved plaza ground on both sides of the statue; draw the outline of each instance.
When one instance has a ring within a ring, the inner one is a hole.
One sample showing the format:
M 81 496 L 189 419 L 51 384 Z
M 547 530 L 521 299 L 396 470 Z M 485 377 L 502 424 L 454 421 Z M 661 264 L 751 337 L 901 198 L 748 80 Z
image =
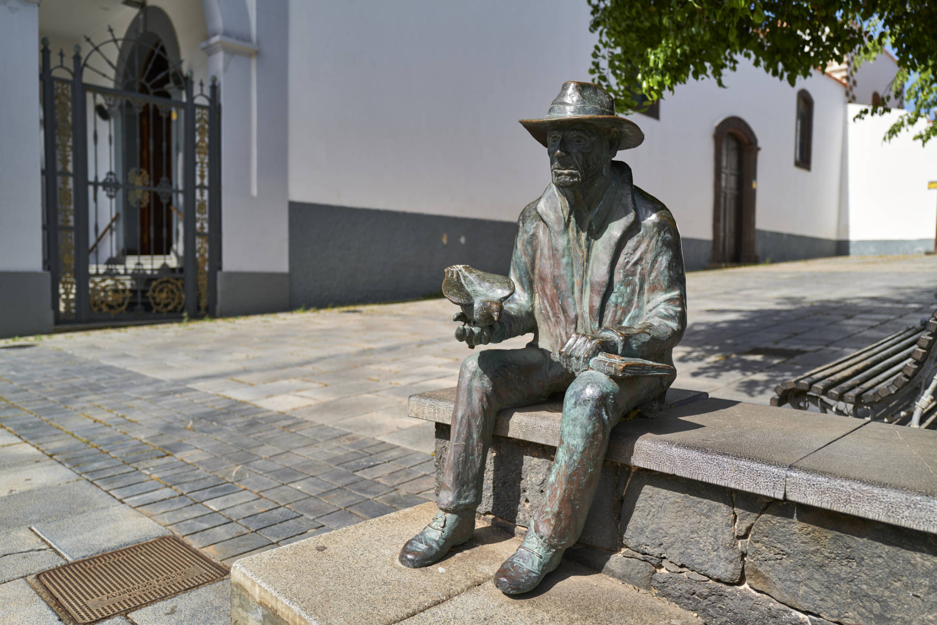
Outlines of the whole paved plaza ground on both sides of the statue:
M 767 403 L 783 379 L 930 316 L 935 276 L 934 257 L 692 273 L 676 386 Z M 11 622 L 58 622 L 26 576 L 67 560 L 175 533 L 230 564 L 433 499 L 433 424 L 407 397 L 454 385 L 469 352 L 453 312 L 426 300 L 0 341 Z M 227 596 L 223 581 L 106 622 L 227 623 Z

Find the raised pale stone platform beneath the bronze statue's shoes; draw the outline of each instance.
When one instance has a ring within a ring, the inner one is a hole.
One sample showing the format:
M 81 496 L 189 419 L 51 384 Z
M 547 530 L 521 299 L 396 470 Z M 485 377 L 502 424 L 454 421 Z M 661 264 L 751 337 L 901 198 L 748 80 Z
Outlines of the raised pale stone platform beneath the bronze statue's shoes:
M 400 547 L 436 512 L 425 503 L 237 560 L 231 625 L 608 623 L 702 625 L 673 603 L 563 563 L 541 588 L 507 597 L 491 583 L 520 541 L 480 523 L 437 565 L 407 569 Z

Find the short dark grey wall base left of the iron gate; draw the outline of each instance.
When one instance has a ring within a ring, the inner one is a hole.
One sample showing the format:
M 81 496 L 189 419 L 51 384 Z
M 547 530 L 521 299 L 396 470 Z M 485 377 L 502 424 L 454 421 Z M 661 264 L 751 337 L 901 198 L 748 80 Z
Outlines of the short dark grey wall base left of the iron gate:
M 0 338 L 52 332 L 49 272 L 0 271 Z

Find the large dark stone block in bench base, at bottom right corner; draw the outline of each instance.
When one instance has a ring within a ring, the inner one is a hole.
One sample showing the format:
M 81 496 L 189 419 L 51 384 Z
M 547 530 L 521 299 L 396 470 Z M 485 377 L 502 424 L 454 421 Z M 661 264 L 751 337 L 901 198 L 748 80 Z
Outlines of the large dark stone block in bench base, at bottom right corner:
M 937 623 L 937 536 L 772 503 L 751 528 L 746 578 L 778 601 L 843 623 Z

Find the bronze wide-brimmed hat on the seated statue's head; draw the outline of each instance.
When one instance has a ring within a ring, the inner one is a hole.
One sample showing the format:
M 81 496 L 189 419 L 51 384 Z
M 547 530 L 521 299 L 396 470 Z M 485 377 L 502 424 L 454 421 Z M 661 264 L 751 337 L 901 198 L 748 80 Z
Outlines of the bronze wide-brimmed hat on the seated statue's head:
M 644 141 L 644 133 L 637 124 L 615 114 L 615 99 L 598 84 L 591 82 L 563 82 L 559 95 L 553 100 L 545 117 L 520 120 L 533 138 L 544 146 L 547 128 L 576 122 L 616 128 L 621 137 L 619 150 L 637 147 Z

